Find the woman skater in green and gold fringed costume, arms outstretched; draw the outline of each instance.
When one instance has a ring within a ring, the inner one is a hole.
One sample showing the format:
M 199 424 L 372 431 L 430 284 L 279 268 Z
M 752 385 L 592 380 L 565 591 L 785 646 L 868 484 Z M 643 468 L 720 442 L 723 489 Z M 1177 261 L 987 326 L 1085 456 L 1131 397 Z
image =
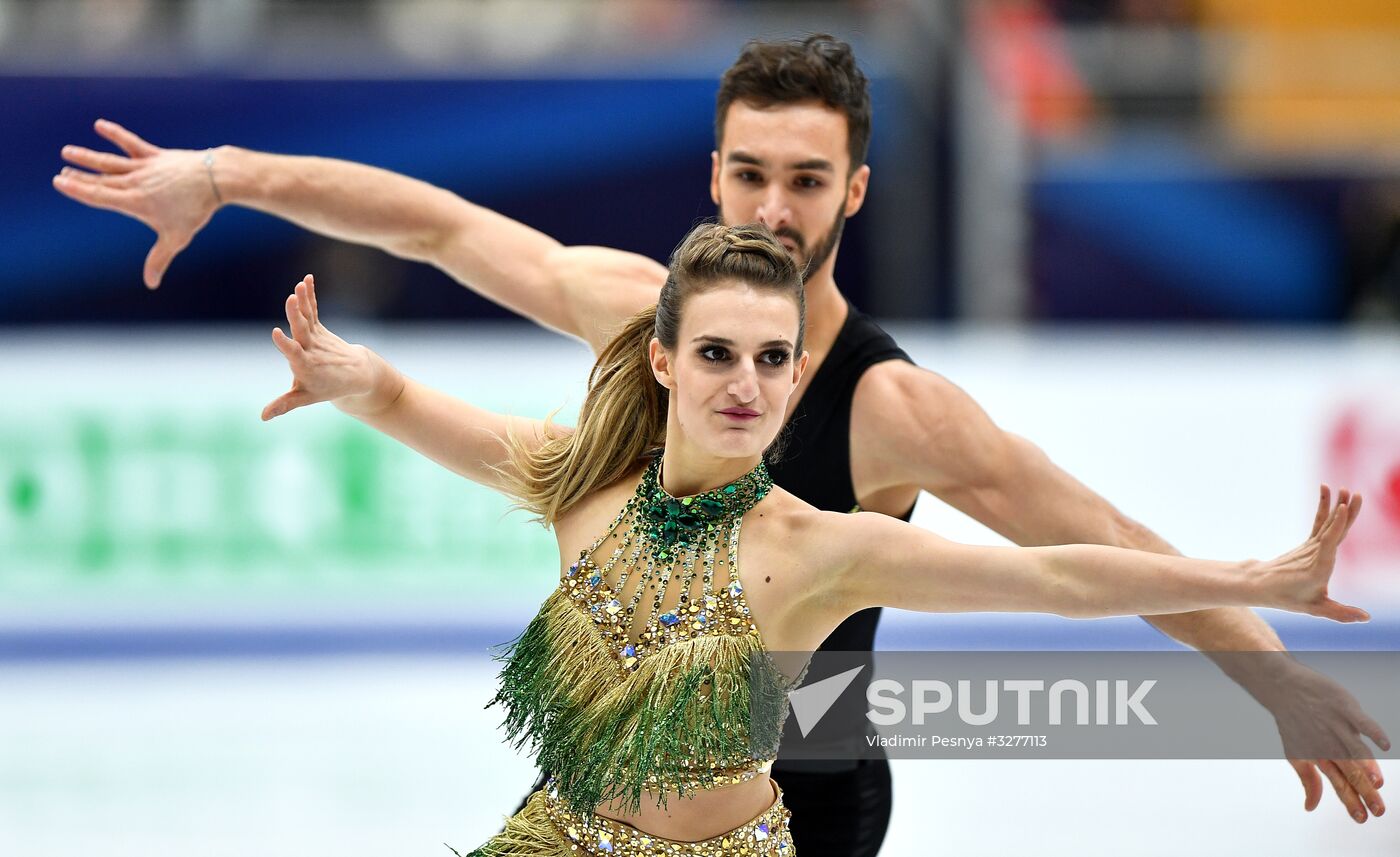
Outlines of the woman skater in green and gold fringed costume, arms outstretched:
M 332 402 L 507 493 L 559 539 L 559 587 L 503 654 L 493 700 L 552 779 L 473 856 L 791 856 L 769 776 L 781 723 L 750 734 L 755 693 L 781 693 L 791 676 L 756 675 L 773 661 L 755 655 L 813 651 L 864 608 L 1092 618 L 1257 605 L 1368 618 L 1327 595 L 1361 510 L 1345 490 L 1333 504 L 1323 489 L 1298 549 L 1228 563 L 958 545 L 886 515 L 818 511 L 773 486 L 763 455 L 806 365 L 802 294 L 764 227 L 696 227 L 657 307 L 598 357 L 573 428 L 405 378 L 321 323 L 311 276 L 287 298 L 291 336 L 273 330 L 273 343 L 293 386 L 265 420 Z

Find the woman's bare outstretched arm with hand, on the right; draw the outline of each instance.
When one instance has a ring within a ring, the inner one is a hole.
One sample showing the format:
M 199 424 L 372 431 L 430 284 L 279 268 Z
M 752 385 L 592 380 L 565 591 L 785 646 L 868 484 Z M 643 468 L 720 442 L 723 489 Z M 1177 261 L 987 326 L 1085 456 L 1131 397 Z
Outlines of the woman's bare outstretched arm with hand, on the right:
M 1365 611 L 1327 595 L 1337 546 L 1359 511 L 1359 494 L 1343 490 L 1331 506 L 1323 493 L 1306 542 L 1273 560 L 1238 563 L 1103 545 L 959 545 L 868 513 L 843 515 L 848 521 L 829 529 L 846 534 L 841 541 L 847 546 L 840 553 L 850 559 L 837 580 L 844 606 L 853 609 L 879 605 L 1088 619 L 1268 606 L 1337 622 L 1364 622 L 1369 619 Z

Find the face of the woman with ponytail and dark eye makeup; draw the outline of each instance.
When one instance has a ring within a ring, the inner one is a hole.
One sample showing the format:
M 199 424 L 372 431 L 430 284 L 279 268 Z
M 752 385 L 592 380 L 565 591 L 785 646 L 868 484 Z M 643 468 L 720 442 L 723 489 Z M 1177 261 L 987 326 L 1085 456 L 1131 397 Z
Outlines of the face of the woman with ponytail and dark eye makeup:
M 692 295 L 673 351 L 651 340 L 657 381 L 671 391 L 668 431 L 721 458 L 760 455 L 777 437 L 806 353 L 795 354 L 792 297 L 742 283 Z

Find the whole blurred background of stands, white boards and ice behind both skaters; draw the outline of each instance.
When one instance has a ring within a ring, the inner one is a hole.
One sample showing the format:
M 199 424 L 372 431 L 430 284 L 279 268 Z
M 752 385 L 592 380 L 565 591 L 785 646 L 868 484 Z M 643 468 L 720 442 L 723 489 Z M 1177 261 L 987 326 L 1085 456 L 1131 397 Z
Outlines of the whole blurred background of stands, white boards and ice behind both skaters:
M 312 272 L 332 329 L 477 405 L 567 421 L 589 367 L 248 210 L 147 291 L 153 234 L 55 192 L 60 147 L 105 148 L 101 116 L 343 157 L 665 259 L 714 213 L 720 74 L 808 32 L 875 98 L 843 291 L 1183 552 L 1271 556 L 1317 482 L 1365 492 L 1336 591 L 1375 620 L 1270 620 L 1400 646 L 1396 0 L 0 0 L 0 854 L 484 839 L 532 777 L 480 713 L 486 653 L 556 584 L 553 539 L 333 409 L 259 423 L 267 330 Z M 927 496 L 914 520 L 1000 541 Z M 1172 646 L 889 613 L 886 648 Z M 1299 797 L 1282 762 L 906 763 L 886 853 L 930 825 L 969 857 L 1400 849 Z

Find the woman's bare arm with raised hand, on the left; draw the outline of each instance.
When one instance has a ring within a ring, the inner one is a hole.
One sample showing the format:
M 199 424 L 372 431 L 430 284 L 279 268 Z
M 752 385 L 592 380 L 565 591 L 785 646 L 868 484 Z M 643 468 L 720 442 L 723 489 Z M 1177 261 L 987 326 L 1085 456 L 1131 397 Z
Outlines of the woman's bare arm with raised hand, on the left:
M 501 443 L 507 433 L 526 445 L 546 438 L 542 420 L 494 413 L 424 386 L 370 349 L 332 333 L 316 312 L 311 274 L 287 297 L 287 322 L 291 336 L 277 328 L 272 340 L 291 367 L 291 389 L 263 407 L 263 420 L 330 402 L 449 471 L 491 487 L 500 487 L 500 469 L 511 468 Z M 552 424 L 549 431 L 570 430 Z

